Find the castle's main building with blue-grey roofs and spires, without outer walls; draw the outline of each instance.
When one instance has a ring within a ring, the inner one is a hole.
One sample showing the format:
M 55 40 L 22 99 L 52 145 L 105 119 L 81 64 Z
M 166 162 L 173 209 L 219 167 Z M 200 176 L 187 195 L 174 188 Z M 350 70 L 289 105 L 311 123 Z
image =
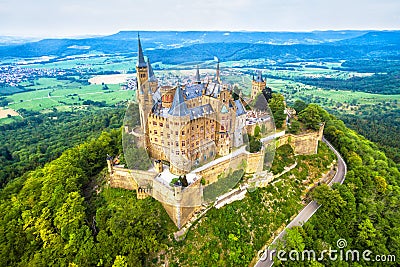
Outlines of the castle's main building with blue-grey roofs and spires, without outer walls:
M 140 39 L 138 48 L 136 100 L 143 146 L 151 158 L 169 162 L 171 173 L 182 175 L 243 145 L 245 103 L 234 100 L 231 86 L 222 83 L 219 63 L 212 80 L 202 82 L 197 67 L 190 84 L 159 86 L 150 62 L 144 60 Z M 259 72 L 252 97 L 263 88 Z

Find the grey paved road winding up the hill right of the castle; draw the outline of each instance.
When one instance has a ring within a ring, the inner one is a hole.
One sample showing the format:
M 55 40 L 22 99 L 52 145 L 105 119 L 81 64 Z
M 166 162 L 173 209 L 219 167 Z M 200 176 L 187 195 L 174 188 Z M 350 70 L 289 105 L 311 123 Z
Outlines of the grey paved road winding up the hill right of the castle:
M 322 141 L 328 145 L 328 147 L 333 151 L 333 153 L 335 153 L 335 155 L 338 158 L 338 168 L 336 174 L 328 185 L 332 186 L 333 183 L 343 184 L 343 181 L 346 178 L 347 165 L 344 162 L 342 156 L 339 154 L 339 152 L 336 151 L 336 149 L 331 145 L 331 143 L 328 142 L 328 140 L 325 139 L 325 137 L 322 138 Z M 313 214 L 319 209 L 319 207 L 321 207 L 321 205 L 319 205 L 315 201 L 311 201 L 307 206 L 305 206 L 300 211 L 300 213 L 296 216 L 296 218 L 294 218 L 286 226 L 286 228 L 277 237 L 275 237 L 271 245 L 274 245 L 277 242 L 277 240 L 281 239 L 285 235 L 286 229 L 290 229 L 293 226 L 301 226 L 304 222 L 308 221 L 308 219 L 310 219 L 311 216 L 313 216 Z M 272 255 L 274 254 L 274 252 L 270 251 L 269 247 L 267 251 L 265 251 L 262 255 L 260 255 L 261 257 L 255 264 L 255 267 L 270 267 L 274 264 L 274 261 L 272 259 L 273 258 Z

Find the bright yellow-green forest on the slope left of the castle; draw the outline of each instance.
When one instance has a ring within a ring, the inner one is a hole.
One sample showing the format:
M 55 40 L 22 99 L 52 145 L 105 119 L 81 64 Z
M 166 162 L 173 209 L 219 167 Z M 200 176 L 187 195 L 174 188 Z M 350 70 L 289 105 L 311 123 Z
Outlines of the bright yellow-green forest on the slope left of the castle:
M 0 266 L 143 266 L 164 248 L 173 224 L 160 203 L 101 186 L 106 155 L 121 149 L 120 130 L 104 132 L 8 183 Z

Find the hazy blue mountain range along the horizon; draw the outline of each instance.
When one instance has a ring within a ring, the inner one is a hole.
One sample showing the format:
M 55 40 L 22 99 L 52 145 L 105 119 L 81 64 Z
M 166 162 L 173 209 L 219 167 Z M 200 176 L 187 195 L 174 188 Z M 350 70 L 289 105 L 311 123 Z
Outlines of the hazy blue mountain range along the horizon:
M 0 58 L 137 51 L 137 32 L 90 38 L 60 38 L 32 41 L 0 37 Z M 140 32 L 143 47 L 152 61 L 182 63 L 212 59 L 240 60 L 387 58 L 400 59 L 400 31 L 314 32 Z M 130 55 L 131 56 L 131 55 Z

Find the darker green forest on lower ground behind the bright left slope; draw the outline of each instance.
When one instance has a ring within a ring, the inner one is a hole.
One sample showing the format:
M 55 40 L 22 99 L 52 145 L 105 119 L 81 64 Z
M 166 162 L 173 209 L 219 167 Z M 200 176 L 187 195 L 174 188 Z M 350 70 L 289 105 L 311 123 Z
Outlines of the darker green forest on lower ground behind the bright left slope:
M 27 114 L 20 122 L 0 126 L 0 188 L 88 137 L 121 127 L 123 114 L 122 108 Z

